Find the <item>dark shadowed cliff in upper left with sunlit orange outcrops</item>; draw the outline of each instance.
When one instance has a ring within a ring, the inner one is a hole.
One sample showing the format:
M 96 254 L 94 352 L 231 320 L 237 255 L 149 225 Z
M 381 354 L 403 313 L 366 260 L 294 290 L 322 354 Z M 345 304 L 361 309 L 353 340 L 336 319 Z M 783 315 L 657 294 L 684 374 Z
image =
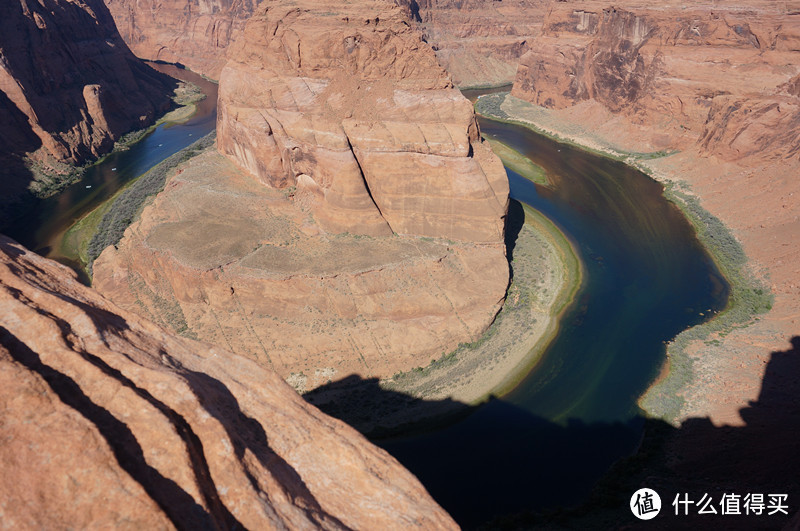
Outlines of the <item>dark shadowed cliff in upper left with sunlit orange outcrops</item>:
M 81 164 L 151 124 L 169 106 L 174 86 L 133 56 L 101 0 L 0 5 L 5 158 L 32 153 L 45 166 Z M 2 181 L 4 194 L 27 185 L 20 175 Z

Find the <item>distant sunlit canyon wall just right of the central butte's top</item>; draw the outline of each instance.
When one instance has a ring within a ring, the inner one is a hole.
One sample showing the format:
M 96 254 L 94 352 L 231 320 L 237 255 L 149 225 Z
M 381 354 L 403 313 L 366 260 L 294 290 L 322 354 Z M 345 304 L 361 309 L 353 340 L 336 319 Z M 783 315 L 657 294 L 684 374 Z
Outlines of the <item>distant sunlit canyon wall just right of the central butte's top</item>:
M 458 86 L 511 83 L 539 34 L 546 0 L 395 0 Z

